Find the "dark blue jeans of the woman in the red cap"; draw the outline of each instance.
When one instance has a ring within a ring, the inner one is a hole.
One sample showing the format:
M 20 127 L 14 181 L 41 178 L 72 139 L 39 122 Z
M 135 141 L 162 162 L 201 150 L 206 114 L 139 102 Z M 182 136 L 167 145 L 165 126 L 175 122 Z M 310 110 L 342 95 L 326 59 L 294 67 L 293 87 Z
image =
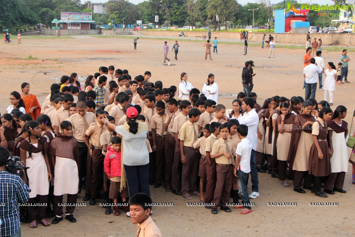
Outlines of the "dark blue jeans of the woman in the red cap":
M 149 163 L 142 166 L 125 166 L 128 193 L 130 197 L 136 193 L 151 195 L 149 190 Z

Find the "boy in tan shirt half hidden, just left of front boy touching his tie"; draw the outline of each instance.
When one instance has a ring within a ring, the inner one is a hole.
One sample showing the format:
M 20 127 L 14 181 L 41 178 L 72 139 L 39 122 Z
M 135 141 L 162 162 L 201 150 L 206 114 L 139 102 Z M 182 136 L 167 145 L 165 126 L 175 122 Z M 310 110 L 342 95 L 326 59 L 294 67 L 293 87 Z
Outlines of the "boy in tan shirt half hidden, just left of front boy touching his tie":
M 212 146 L 215 141 L 218 140 L 220 123 L 212 122 L 209 125 L 209 131 L 211 136 L 206 139 L 204 149 L 206 151 L 206 197 L 204 203 L 211 203 L 213 200 L 214 189 L 216 187 L 216 161 L 211 159 Z M 211 208 L 211 206 L 205 206 L 205 208 Z

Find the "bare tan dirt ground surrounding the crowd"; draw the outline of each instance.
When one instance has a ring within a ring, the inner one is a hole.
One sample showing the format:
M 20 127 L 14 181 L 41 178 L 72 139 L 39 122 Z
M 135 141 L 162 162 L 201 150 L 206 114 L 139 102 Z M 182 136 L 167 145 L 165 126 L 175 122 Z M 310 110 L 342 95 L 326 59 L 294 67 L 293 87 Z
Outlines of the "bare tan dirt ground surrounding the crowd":
M 186 37 L 188 39 L 188 37 Z M 176 38 L 179 40 L 179 38 Z M 223 41 L 223 39 L 219 39 Z M 9 106 L 11 91 L 21 92 L 21 82 L 8 81 L 7 78 L 34 78 L 30 82 L 31 91 L 37 95 L 42 105 L 44 98 L 50 92 L 49 87 L 59 82 L 62 75 L 76 72 L 84 79 L 97 72 L 99 66 L 114 65 L 115 68 L 127 69 L 134 78 L 145 71 L 151 71 L 151 81 L 160 80 L 164 87 L 178 86 L 181 72 L 187 72 L 189 81 L 194 87 L 202 90 L 207 75 L 213 73 L 215 82 L 219 85 L 219 103 L 231 108 L 231 102 L 236 94 L 242 91 L 241 72 L 244 62 L 253 60 L 254 92 L 257 101 L 263 104 L 266 98 L 274 95 L 305 96 L 303 86 L 303 55 L 305 50 L 278 48 L 276 45 L 275 58 L 268 58 L 269 50 L 261 47 L 248 48 L 247 56 L 242 55 L 244 47 L 239 45 L 221 44 L 218 55 L 212 54 L 213 61 L 204 61 L 203 42 L 180 42 L 178 60 L 174 60 L 174 53 L 169 52 L 171 66 L 163 65 L 163 41 L 145 39 L 140 36 L 137 50 L 133 50 L 133 39 L 107 37 L 95 38 L 90 36 L 75 36 L 74 38 L 53 39 L 40 37 L 33 39 L 23 37 L 22 44 L 15 40 L 12 44 L 0 44 L 0 72 L 4 77 L 1 82 L 0 111 L 5 113 Z M 170 50 L 175 39 L 168 41 Z M 328 61 L 339 62 L 341 52 L 327 52 L 323 49 L 325 65 Z M 32 60 L 25 60 L 32 55 Z M 354 52 L 348 53 L 354 58 Z M 349 63 L 350 71 L 354 67 Z M 43 75 L 45 72 L 46 75 Z M 5 80 L 6 78 L 6 80 Z M 47 82 L 43 82 L 43 79 Z M 342 104 L 348 108 L 345 120 L 350 124 L 354 111 L 353 73 L 349 73 L 351 84 L 337 85 L 334 92 L 334 106 Z M 39 79 L 39 80 L 37 80 Z M 323 80 L 325 76 L 323 76 Z M 316 92 L 317 101 L 323 99 L 323 91 Z M 349 126 L 350 128 L 350 126 Z M 350 152 L 350 150 L 348 150 Z M 306 190 L 306 194 L 293 191 L 290 187 L 283 187 L 277 179 L 270 178 L 267 173 L 259 173 L 260 197 L 251 199 L 255 202 L 253 212 L 240 215 L 239 209 L 232 209 L 231 213 L 219 210 L 218 215 L 211 214 L 211 210 L 203 207 L 188 207 L 187 200 L 181 196 L 165 192 L 163 187 L 153 188 L 151 196 L 153 202 L 174 202 L 171 207 L 154 207 L 152 219 L 160 228 L 163 236 L 354 236 L 354 194 L 355 185 L 351 184 L 351 165 L 346 173 L 344 189 L 346 194 L 335 193 L 328 198 L 320 198 Z M 251 192 L 251 187 L 249 187 Z M 84 194 L 79 194 L 78 202 L 83 202 Z M 192 202 L 198 202 L 199 197 L 193 196 Z M 98 199 L 97 202 L 100 202 Z M 296 202 L 297 206 L 268 206 L 274 202 Z M 310 206 L 313 202 L 336 202 L 334 206 Z M 67 220 L 48 228 L 38 225 L 37 229 L 30 229 L 29 224 L 22 224 L 22 236 L 135 236 L 136 225 L 125 215 L 105 215 L 104 210 L 97 205 L 77 207 L 74 216 L 76 223 Z M 48 219 L 52 221 L 53 219 Z M 113 222 L 112 222 L 113 221 Z M 112 223 L 109 223 L 112 222 Z

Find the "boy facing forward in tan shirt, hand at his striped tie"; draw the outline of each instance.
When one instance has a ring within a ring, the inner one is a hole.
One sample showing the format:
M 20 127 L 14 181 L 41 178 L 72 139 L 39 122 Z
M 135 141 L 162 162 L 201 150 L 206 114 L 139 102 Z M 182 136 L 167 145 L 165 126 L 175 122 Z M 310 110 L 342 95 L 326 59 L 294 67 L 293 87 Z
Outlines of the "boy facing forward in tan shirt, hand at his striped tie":
M 221 138 L 215 141 L 212 146 L 211 158 L 216 160 L 217 165 L 217 182 L 212 201 L 215 205 L 211 209 L 212 214 L 218 213 L 219 201 L 221 202 L 221 210 L 231 212 L 226 203 L 229 203 L 230 190 L 232 188 L 233 163 L 235 162 L 233 154 L 235 149 L 233 142 L 228 139 L 229 133 L 228 124 L 222 124 L 219 127 Z

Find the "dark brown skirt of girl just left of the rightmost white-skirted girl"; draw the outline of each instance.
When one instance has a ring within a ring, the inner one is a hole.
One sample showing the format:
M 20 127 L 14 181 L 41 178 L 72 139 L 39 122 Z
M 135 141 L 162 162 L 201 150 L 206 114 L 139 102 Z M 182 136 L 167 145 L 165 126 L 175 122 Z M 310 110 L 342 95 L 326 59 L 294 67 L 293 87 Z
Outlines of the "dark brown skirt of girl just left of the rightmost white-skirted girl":
M 318 141 L 318 144 L 321 147 L 321 151 L 323 153 L 323 160 L 319 159 L 317 147 L 313 143 L 308 160 L 308 173 L 313 174 L 316 177 L 328 176 L 332 173 L 328 142 Z

